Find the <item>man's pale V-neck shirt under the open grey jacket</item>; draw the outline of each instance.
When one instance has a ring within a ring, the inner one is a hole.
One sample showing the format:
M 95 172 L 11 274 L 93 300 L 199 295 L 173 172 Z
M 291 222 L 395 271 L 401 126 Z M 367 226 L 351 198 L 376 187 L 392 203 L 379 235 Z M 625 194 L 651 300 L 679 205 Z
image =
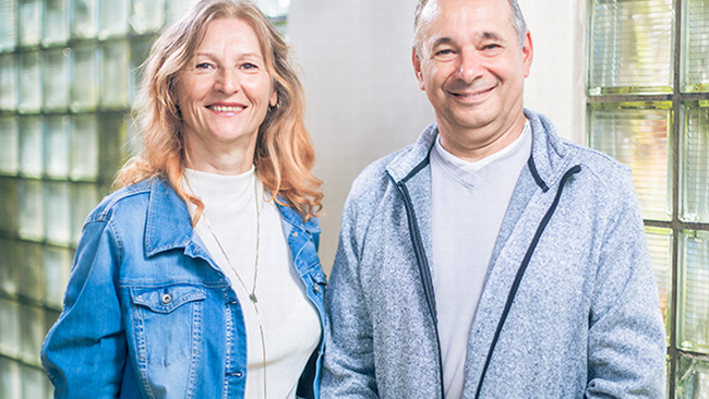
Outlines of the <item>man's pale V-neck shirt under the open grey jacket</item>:
M 446 399 L 462 397 L 470 328 L 519 173 L 531 155 L 529 121 L 504 149 L 476 162 L 436 140 L 431 150 L 433 286 Z

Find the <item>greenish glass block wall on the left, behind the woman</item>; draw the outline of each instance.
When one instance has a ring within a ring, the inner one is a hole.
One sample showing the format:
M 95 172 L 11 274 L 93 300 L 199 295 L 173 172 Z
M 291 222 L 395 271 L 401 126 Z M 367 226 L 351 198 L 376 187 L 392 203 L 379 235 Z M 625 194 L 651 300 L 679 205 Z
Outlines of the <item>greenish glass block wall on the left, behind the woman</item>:
M 131 152 L 136 68 L 195 2 L 0 0 L 0 399 L 52 397 L 39 348 Z M 255 2 L 284 32 L 290 1 Z

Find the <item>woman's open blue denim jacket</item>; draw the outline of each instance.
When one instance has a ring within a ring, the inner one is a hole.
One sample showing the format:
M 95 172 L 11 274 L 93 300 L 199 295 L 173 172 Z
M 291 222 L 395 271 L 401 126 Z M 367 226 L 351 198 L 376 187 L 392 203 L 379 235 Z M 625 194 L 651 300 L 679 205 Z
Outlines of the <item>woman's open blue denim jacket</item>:
M 323 329 L 320 228 L 279 206 L 295 267 Z M 243 398 L 241 305 L 159 179 L 106 197 L 87 217 L 64 310 L 41 348 L 57 398 Z M 323 340 L 298 396 L 317 398 Z

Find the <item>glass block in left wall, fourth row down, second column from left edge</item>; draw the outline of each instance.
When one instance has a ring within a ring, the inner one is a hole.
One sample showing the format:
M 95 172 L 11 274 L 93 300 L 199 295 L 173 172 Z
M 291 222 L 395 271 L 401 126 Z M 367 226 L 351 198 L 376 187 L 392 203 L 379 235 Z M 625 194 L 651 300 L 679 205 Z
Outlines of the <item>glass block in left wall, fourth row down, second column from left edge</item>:
M 17 233 L 23 239 L 41 241 L 45 238 L 41 192 L 41 182 L 36 180 L 21 180 L 17 184 L 20 204 Z

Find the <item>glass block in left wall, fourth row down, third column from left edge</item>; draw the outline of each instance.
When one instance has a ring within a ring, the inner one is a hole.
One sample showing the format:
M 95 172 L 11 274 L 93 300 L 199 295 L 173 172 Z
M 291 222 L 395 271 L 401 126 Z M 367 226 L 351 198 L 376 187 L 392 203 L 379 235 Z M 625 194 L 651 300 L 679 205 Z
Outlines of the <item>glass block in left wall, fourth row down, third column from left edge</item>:
M 47 241 L 68 245 L 71 241 L 69 182 L 45 182 L 45 231 Z

